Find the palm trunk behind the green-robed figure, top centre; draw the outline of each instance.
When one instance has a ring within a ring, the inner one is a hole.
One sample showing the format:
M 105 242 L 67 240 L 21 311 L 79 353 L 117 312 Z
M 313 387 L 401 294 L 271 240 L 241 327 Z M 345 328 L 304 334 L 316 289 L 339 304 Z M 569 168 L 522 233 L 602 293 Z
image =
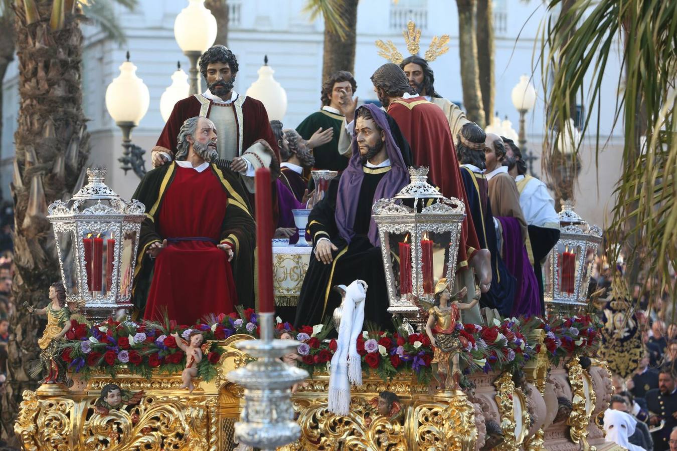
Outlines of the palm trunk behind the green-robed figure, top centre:
M 355 35 L 357 34 L 357 0 L 341 3 L 340 14 L 346 24 L 345 38 L 332 33 L 324 25 L 324 57 L 322 59 L 322 80 L 339 70 L 355 70 Z

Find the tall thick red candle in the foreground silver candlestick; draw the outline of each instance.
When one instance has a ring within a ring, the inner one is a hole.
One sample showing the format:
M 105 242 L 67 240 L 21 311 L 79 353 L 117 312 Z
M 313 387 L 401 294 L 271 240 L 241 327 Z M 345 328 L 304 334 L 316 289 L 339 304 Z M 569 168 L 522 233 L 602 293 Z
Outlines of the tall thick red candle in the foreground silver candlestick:
M 259 168 L 255 177 L 256 239 L 259 260 L 259 312 L 274 313 L 273 304 L 273 234 L 270 170 Z

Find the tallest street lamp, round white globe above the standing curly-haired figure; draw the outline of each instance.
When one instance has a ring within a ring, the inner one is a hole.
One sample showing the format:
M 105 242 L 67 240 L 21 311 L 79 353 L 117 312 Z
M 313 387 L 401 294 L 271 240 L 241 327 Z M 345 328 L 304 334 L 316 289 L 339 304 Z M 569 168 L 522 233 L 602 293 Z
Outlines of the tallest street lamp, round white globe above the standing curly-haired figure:
M 198 59 L 216 39 L 216 19 L 204 7 L 204 0 L 188 0 L 174 21 L 174 37 L 190 62 L 190 95 L 200 93 Z

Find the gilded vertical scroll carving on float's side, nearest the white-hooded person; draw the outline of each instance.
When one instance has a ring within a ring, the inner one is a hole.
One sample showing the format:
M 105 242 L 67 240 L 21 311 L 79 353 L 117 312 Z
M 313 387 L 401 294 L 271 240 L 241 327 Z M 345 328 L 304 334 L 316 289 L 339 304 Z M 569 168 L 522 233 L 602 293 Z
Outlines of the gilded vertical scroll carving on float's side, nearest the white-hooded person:
M 571 400 L 573 410 L 571 410 L 569 419 L 567 419 L 567 425 L 569 425 L 569 437 L 571 437 L 571 442 L 580 444 L 584 451 L 594 451 L 596 448 L 588 444 L 587 437 L 590 414 L 592 413 L 592 408 L 594 408 L 595 395 L 594 391 L 590 389 L 588 399 L 586 400 L 583 380 L 584 377 L 587 377 L 588 381 L 590 381 L 590 376 L 583 371 L 577 356 L 573 356 L 566 366 L 569 372 L 569 384 L 571 384 L 571 391 L 573 393 L 573 399 Z M 590 388 L 591 387 L 592 383 L 590 383 Z M 586 403 L 590 403 L 591 407 L 589 409 L 586 408 Z

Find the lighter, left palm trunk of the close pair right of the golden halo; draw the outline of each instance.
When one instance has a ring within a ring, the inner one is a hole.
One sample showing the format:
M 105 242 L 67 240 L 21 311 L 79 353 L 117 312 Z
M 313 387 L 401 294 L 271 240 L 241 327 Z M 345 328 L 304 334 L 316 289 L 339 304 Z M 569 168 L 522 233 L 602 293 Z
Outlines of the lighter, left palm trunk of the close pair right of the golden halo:
M 469 120 L 485 126 L 482 92 L 479 88 L 477 39 L 475 39 L 476 0 L 456 0 L 458 7 L 458 47 L 461 62 L 463 105 Z

